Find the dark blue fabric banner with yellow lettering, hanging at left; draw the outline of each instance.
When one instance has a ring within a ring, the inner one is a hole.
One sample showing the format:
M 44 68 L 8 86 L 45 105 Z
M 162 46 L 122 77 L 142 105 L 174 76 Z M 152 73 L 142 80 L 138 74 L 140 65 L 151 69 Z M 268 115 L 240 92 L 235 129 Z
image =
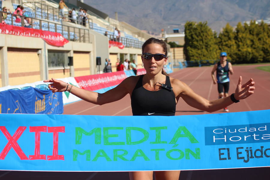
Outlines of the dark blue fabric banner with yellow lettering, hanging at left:
M 0 114 L 62 114 L 62 93 L 27 88 L 0 92 Z

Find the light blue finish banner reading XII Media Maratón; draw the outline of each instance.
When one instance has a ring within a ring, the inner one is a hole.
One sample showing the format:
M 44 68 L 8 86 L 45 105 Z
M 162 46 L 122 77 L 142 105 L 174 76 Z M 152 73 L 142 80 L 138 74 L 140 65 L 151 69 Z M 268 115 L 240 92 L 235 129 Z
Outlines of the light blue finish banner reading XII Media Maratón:
M 270 110 L 192 116 L 0 114 L 0 170 L 270 166 Z

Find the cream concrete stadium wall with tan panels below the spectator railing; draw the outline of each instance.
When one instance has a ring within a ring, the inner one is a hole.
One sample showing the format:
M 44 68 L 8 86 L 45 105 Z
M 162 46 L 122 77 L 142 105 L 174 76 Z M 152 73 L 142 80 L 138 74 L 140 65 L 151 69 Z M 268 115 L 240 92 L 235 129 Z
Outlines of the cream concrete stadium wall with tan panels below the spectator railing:
M 41 38 L 0 34 L 0 87 L 32 83 L 51 77 L 74 77 L 75 72 L 82 75 L 95 74 L 97 72 L 95 37 L 90 34 L 90 38 L 92 43 L 70 41 L 64 46 L 56 47 L 46 44 Z M 73 56 L 75 52 L 75 59 L 82 58 L 82 63 L 86 64 L 84 66 L 88 70 L 77 69 L 82 67 L 77 67 L 76 61 L 76 69 L 74 66 L 49 68 L 48 50 L 67 52 L 68 56 Z M 78 57 L 77 52 L 83 55 Z

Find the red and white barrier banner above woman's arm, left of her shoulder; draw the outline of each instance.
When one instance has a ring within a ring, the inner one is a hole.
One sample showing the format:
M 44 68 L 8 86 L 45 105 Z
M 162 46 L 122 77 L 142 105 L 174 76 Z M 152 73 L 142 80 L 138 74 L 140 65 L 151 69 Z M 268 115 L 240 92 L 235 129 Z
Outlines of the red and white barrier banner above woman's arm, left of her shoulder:
M 127 75 L 124 71 L 74 77 L 80 88 L 95 91 L 120 84 Z

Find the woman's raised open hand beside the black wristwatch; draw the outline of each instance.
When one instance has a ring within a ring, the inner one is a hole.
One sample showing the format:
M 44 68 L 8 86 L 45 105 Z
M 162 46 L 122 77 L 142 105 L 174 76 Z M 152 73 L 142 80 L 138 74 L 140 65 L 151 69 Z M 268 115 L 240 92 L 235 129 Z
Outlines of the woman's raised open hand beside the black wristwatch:
M 248 96 L 252 95 L 254 93 L 254 84 L 252 78 L 250 78 L 249 81 L 247 81 L 245 84 L 242 85 L 242 76 L 239 77 L 237 87 L 235 89 L 235 95 L 234 98 L 236 100 L 245 99 Z

